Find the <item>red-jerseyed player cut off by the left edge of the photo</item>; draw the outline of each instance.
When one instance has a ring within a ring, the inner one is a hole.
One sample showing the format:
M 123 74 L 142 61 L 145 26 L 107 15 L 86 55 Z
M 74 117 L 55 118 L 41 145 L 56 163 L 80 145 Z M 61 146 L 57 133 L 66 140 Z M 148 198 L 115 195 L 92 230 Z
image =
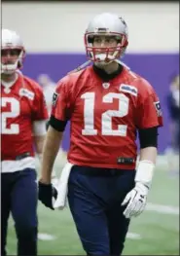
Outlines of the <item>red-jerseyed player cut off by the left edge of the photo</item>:
M 41 87 L 18 70 L 25 50 L 15 31 L 1 44 L 1 255 L 6 255 L 10 212 L 18 255 L 37 255 L 37 182 L 34 148 L 41 159 L 48 112 Z

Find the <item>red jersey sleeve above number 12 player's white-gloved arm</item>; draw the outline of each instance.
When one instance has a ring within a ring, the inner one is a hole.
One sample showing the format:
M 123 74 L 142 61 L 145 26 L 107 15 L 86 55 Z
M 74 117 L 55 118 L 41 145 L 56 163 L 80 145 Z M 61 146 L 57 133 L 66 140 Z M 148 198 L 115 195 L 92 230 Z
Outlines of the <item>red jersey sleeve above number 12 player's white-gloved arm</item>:
M 147 82 L 141 82 L 140 88 L 136 112 L 137 128 L 162 127 L 162 108 L 157 93 Z

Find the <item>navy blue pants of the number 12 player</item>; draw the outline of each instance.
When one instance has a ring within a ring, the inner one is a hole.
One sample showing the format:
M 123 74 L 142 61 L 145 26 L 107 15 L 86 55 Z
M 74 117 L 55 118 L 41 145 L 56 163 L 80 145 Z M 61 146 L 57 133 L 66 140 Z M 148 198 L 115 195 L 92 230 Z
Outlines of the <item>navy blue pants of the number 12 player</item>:
M 122 254 L 129 219 L 121 203 L 134 187 L 134 175 L 134 170 L 72 167 L 68 201 L 88 255 Z

